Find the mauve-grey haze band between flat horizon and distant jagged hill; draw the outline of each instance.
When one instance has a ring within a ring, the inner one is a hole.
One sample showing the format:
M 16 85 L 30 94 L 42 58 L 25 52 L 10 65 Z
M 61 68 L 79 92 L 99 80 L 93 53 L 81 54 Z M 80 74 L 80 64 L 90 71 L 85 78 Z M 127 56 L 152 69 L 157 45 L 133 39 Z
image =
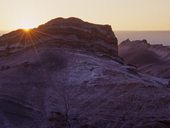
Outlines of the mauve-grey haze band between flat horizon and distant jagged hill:
M 143 40 L 150 44 L 170 45 L 170 31 L 115 31 L 119 43 L 126 39 Z

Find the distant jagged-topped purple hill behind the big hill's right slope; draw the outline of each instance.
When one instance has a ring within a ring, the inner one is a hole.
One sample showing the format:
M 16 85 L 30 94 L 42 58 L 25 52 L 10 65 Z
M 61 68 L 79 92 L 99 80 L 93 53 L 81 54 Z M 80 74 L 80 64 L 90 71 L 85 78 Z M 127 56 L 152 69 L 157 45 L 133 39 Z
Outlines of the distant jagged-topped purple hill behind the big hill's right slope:
M 119 55 L 140 72 L 170 79 L 170 47 L 151 45 L 146 40 L 125 40 L 119 45 Z

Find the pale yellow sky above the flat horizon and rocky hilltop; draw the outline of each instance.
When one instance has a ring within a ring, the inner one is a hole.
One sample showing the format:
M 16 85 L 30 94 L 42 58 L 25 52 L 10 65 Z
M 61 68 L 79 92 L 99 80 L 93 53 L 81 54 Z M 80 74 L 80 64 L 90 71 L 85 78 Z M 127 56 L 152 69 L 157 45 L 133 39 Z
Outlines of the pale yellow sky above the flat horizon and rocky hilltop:
M 57 17 L 110 24 L 113 30 L 170 30 L 170 0 L 0 0 L 1 31 Z

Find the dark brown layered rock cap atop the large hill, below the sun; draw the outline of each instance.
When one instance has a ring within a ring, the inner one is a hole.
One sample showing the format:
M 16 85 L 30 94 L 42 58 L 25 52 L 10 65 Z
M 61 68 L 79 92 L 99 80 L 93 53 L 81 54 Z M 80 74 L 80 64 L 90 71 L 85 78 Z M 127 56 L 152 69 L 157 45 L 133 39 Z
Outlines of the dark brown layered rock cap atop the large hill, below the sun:
M 23 30 L 17 30 L 0 38 L 2 49 L 4 45 L 18 48 L 41 42 L 54 43 L 55 47 L 81 50 L 99 56 L 118 56 L 117 38 L 111 26 L 96 25 L 77 18 L 53 19 L 32 29 L 29 34 Z

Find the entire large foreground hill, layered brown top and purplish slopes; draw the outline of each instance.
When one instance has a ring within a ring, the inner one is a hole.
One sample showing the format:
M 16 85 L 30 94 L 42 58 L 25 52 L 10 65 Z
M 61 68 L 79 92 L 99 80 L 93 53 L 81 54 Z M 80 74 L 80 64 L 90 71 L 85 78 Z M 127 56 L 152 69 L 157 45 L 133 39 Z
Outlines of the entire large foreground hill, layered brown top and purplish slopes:
M 1 128 L 137 128 L 169 120 L 168 81 L 124 65 L 109 26 L 59 18 L 0 42 Z

